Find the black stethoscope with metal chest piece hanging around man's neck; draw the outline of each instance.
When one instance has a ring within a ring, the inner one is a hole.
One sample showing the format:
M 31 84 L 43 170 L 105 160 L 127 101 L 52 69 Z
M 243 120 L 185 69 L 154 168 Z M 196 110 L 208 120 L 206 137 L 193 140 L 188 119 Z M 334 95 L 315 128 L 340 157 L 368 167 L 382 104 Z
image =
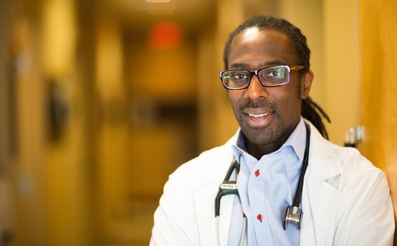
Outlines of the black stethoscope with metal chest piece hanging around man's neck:
M 305 153 L 304 153 L 303 160 L 302 160 L 302 170 L 300 172 L 298 187 L 296 188 L 296 193 L 295 193 L 295 197 L 294 197 L 294 202 L 292 204 L 292 208 L 291 208 L 291 206 L 287 206 L 286 215 L 284 216 L 284 220 L 282 222 L 282 227 L 284 228 L 284 230 L 287 228 L 287 223 L 289 223 L 289 222 L 291 222 L 292 224 L 297 226 L 298 229 L 300 230 L 300 223 L 302 221 L 303 212 L 299 208 L 299 205 L 300 205 L 300 202 L 302 199 L 303 179 L 304 179 L 304 175 L 305 175 L 307 164 L 308 164 L 309 147 L 310 147 L 310 127 L 306 122 L 305 122 L 305 126 L 306 126 L 306 146 L 305 146 Z M 231 177 L 234 169 L 236 169 L 237 173 L 239 173 L 240 164 L 237 162 L 236 158 L 233 159 L 232 164 L 230 165 L 229 170 L 226 173 L 226 176 L 223 180 L 223 183 L 220 184 L 220 186 L 219 186 L 219 191 L 215 198 L 215 223 L 216 223 L 216 237 L 217 237 L 218 245 L 220 245 L 220 242 L 219 242 L 220 198 L 222 198 L 222 196 L 231 195 L 231 194 L 239 196 L 239 192 L 237 190 L 237 180 L 230 180 L 230 177 Z M 244 214 L 243 229 L 241 232 L 241 238 L 240 238 L 240 244 L 239 244 L 240 246 L 242 246 L 243 242 L 244 242 L 246 224 L 247 224 L 247 218 Z

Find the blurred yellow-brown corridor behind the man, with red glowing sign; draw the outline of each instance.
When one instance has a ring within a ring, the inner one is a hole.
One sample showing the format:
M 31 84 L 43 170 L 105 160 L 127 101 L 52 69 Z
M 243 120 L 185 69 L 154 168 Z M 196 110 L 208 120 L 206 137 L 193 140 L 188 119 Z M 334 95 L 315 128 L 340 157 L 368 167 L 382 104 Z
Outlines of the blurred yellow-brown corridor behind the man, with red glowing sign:
M 168 175 L 237 129 L 218 72 L 253 14 L 304 30 L 311 95 L 343 144 L 359 123 L 357 1 L 0 1 L 0 246 L 148 245 Z M 346 107 L 326 94 L 341 54 Z

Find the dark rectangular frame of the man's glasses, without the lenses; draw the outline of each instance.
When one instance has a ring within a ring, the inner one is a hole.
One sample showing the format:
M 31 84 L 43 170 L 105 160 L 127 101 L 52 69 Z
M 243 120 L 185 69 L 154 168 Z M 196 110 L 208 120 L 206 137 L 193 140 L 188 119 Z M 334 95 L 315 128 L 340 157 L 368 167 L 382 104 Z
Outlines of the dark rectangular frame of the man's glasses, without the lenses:
M 271 67 L 285 67 L 285 68 L 287 68 L 288 69 L 287 81 L 285 83 L 282 83 L 282 84 L 279 84 L 279 85 L 264 85 L 262 83 L 262 81 L 261 81 L 261 78 L 259 78 L 258 74 L 259 74 L 259 72 L 261 72 L 261 70 L 266 69 L 266 68 L 271 68 Z M 276 86 L 287 85 L 290 82 L 290 77 L 291 77 L 290 73 L 291 73 L 291 71 L 298 71 L 298 70 L 303 69 L 303 68 L 304 68 L 304 66 L 301 66 L 301 65 L 265 66 L 265 67 L 259 68 L 257 70 L 245 70 L 245 69 L 236 68 L 236 69 L 229 69 L 229 70 L 225 70 L 225 71 L 220 71 L 219 72 L 219 77 L 220 77 L 220 80 L 222 81 L 223 87 L 228 89 L 228 90 L 242 90 L 242 89 L 248 88 L 249 84 L 251 83 L 252 76 L 257 76 L 257 78 L 258 78 L 259 82 L 261 83 L 261 85 L 263 85 L 265 87 L 276 87 Z M 248 74 L 249 74 L 248 84 L 246 86 L 244 86 L 244 87 L 241 87 L 241 88 L 230 88 L 230 87 L 226 86 L 225 83 L 223 82 L 222 76 L 223 76 L 224 73 L 232 72 L 232 71 L 245 71 L 245 72 L 248 72 Z

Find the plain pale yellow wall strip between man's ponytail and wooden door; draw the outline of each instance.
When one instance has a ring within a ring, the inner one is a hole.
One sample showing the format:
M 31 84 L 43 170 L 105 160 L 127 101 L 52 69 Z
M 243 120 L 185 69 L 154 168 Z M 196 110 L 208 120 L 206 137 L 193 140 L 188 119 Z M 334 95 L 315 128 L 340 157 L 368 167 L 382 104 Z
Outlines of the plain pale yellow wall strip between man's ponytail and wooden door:
M 341 8 L 341 6 L 343 6 Z M 358 3 L 324 1 L 325 105 L 332 142 L 343 145 L 345 132 L 360 124 Z

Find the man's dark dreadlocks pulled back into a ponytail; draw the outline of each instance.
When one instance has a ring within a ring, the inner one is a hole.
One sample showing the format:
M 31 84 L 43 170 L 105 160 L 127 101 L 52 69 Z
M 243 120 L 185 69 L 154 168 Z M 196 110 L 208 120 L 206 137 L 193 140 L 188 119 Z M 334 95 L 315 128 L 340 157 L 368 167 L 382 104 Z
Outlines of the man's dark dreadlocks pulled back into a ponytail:
M 293 46 L 295 56 L 298 60 L 298 65 L 304 66 L 303 69 L 297 71 L 299 76 L 302 77 L 310 70 L 310 49 L 307 46 L 306 37 L 302 34 L 301 30 L 285 19 L 263 15 L 252 16 L 230 33 L 229 39 L 223 50 L 223 64 L 225 69 L 228 69 L 229 67 L 228 57 L 233 39 L 241 31 L 251 27 L 271 29 L 285 34 L 288 37 L 290 44 Z M 313 123 L 323 137 L 328 139 L 328 133 L 319 113 L 328 122 L 331 122 L 324 110 L 318 106 L 317 103 L 311 100 L 310 97 L 302 100 L 301 116 Z

